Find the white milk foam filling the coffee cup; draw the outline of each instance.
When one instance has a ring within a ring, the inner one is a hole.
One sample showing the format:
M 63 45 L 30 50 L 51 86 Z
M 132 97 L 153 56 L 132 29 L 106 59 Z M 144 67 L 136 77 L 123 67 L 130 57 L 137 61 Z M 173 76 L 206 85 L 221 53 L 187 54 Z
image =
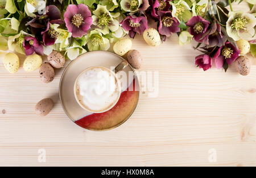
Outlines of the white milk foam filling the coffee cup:
M 77 80 L 77 98 L 89 110 L 106 110 L 119 98 L 117 80 L 104 68 L 89 69 Z

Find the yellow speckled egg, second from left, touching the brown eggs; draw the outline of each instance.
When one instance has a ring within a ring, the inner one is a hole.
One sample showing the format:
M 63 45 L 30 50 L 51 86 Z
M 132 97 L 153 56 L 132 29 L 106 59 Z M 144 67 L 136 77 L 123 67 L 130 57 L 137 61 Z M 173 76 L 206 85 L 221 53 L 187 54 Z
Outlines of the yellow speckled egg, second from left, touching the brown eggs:
M 24 60 L 23 68 L 27 72 L 32 72 L 38 69 L 42 64 L 42 57 L 36 54 L 27 56 Z

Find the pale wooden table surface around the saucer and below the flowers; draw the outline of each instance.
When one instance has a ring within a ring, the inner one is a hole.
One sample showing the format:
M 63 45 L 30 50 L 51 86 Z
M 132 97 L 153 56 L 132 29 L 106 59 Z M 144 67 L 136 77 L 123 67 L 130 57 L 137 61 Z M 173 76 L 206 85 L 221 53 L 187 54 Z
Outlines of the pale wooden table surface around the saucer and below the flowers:
M 38 70 L 23 70 L 24 56 L 18 73 L 8 73 L 2 53 L 0 165 L 255 166 L 256 65 L 248 76 L 234 67 L 203 72 L 194 64 L 200 54 L 192 49 L 195 43 L 178 43 L 174 34 L 154 48 L 136 36 L 133 49 L 143 56 L 141 71 L 159 71 L 159 95 L 141 95 L 127 122 L 102 132 L 82 129 L 65 115 L 58 96 L 64 68 L 44 84 Z M 35 104 L 46 97 L 55 106 L 39 117 Z M 44 151 L 46 162 L 40 161 Z

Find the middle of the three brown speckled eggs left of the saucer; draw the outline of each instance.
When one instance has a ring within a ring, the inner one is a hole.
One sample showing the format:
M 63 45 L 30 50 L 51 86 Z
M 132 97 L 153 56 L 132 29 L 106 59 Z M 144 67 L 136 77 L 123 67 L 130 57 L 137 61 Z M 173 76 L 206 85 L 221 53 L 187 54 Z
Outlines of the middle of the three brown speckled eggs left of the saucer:
M 43 63 L 39 69 L 40 78 L 43 82 L 49 83 L 53 80 L 55 72 L 51 64 Z

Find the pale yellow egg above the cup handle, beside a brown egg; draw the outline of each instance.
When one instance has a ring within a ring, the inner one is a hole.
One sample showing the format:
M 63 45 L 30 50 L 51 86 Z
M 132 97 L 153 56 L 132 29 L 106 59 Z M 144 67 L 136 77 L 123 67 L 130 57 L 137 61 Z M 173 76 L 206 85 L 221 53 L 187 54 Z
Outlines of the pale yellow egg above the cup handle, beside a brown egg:
M 123 56 L 131 49 L 132 44 L 130 39 L 124 38 L 114 44 L 113 50 L 117 55 Z

